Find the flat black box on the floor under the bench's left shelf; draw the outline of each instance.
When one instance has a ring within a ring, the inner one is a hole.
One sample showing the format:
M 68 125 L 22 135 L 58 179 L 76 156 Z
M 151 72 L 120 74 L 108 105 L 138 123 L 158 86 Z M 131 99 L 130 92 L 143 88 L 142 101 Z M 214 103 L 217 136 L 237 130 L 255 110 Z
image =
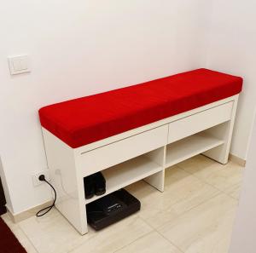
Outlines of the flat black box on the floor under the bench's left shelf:
M 101 230 L 140 209 L 140 201 L 125 189 L 121 189 L 87 204 L 87 222 L 90 227 Z

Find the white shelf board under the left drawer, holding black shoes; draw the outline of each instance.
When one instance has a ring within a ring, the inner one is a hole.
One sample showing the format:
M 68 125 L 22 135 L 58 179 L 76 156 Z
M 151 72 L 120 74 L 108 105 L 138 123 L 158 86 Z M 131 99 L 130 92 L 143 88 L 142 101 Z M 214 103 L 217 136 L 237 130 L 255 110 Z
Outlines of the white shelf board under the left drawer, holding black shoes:
M 106 193 L 102 196 L 94 196 L 90 199 L 85 199 L 85 204 L 89 204 L 98 198 L 102 198 L 109 193 L 126 187 L 133 182 L 142 180 L 149 175 L 163 170 L 160 164 L 154 163 L 146 156 L 133 158 L 125 163 L 115 165 L 107 170 L 102 170 L 102 174 L 106 179 Z

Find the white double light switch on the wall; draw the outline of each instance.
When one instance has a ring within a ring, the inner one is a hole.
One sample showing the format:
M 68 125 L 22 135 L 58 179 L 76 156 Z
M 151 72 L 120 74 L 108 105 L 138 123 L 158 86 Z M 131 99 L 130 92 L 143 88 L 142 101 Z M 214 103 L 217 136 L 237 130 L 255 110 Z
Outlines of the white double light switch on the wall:
M 31 72 L 30 63 L 27 55 L 9 57 L 9 71 L 11 75 Z

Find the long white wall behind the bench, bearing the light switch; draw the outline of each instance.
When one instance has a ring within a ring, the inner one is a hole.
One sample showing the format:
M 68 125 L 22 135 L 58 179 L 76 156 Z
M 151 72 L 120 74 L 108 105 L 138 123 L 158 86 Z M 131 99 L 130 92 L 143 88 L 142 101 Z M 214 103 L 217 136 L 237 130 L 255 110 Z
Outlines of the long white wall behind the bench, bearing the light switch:
M 5 1 L 0 155 L 9 209 L 50 197 L 31 178 L 47 167 L 41 106 L 205 66 L 208 11 L 204 0 Z M 7 57 L 20 54 L 30 55 L 32 73 L 10 77 Z

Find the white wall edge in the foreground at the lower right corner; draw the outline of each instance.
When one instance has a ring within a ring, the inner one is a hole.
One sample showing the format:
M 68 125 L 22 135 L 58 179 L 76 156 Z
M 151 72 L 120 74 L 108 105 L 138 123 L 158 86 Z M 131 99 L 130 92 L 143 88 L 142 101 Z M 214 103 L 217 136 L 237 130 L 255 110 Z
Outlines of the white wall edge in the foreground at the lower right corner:
M 256 121 L 248 153 L 246 175 L 233 232 L 230 253 L 254 253 L 256 250 Z

